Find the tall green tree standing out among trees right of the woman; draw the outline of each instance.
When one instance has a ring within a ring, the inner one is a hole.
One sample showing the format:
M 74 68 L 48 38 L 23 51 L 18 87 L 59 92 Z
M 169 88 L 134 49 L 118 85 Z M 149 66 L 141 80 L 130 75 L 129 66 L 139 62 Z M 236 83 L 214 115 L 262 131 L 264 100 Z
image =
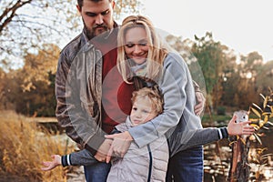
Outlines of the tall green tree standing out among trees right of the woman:
M 212 108 L 217 108 L 222 96 L 223 67 L 227 63 L 227 46 L 213 40 L 211 33 L 198 38 L 192 46 L 192 52 L 197 57 L 206 81 L 207 104 Z

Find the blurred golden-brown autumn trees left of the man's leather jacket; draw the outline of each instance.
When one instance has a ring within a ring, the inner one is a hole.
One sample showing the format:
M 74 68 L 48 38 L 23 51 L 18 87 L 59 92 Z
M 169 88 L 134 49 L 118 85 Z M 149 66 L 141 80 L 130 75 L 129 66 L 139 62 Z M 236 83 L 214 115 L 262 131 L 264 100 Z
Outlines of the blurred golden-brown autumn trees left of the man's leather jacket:
M 60 49 L 44 45 L 38 55 L 25 56 L 25 66 L 10 71 L 5 80 L 5 102 L 9 108 L 27 116 L 54 116 L 56 108 L 55 75 Z

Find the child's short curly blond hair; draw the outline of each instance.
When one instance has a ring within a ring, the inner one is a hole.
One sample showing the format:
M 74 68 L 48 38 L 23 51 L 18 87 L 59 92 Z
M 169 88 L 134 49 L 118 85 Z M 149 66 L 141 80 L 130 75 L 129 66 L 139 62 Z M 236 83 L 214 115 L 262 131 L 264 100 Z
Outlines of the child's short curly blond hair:
M 133 96 L 131 98 L 133 105 L 136 102 L 136 98 L 139 97 L 142 98 L 148 97 L 157 115 L 163 112 L 164 99 L 161 92 L 158 89 L 158 86 L 143 87 L 137 91 L 134 91 Z

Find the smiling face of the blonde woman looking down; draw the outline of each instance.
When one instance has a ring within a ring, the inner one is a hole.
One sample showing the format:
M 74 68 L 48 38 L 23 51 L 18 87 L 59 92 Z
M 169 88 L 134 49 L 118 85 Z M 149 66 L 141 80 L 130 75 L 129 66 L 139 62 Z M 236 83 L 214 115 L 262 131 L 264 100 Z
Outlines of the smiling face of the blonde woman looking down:
M 136 65 L 146 61 L 148 54 L 147 34 L 142 27 L 133 27 L 126 31 L 125 35 L 126 56 L 132 59 Z

